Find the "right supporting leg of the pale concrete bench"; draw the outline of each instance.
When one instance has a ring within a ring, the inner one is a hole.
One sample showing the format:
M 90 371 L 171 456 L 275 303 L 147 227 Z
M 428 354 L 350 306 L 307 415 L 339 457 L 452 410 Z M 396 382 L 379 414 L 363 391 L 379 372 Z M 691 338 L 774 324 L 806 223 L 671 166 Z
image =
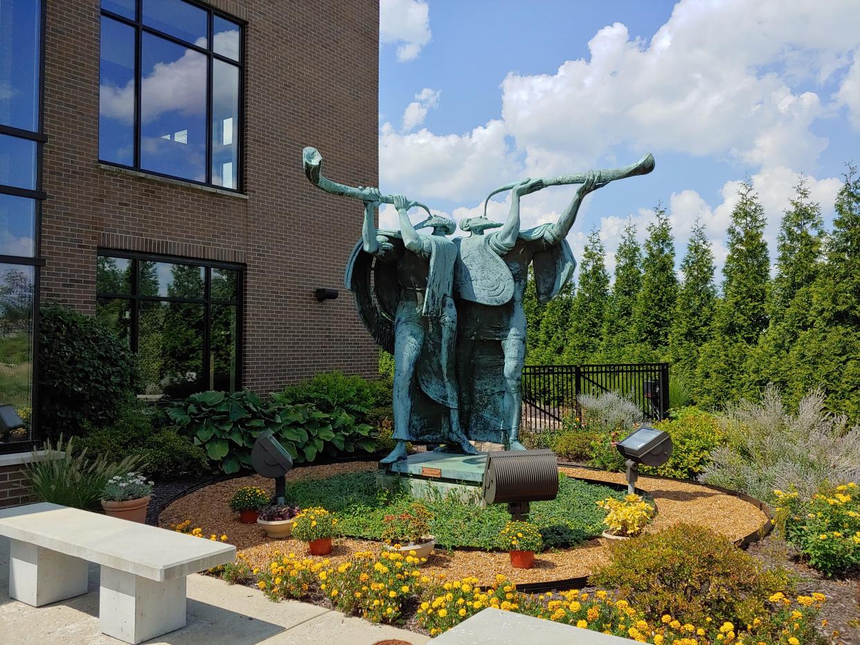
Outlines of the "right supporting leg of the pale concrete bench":
M 185 626 L 185 577 L 164 582 L 101 567 L 101 631 L 138 643 Z

